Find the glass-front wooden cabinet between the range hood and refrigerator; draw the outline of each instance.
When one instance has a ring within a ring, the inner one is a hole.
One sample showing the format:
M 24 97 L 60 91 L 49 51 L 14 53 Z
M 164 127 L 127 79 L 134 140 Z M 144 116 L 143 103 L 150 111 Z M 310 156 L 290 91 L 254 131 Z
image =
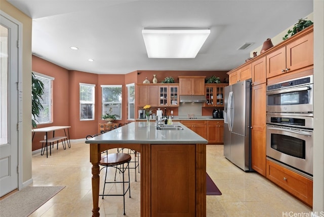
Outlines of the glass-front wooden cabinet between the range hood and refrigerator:
M 224 107 L 224 88 L 227 84 L 206 84 L 205 107 Z

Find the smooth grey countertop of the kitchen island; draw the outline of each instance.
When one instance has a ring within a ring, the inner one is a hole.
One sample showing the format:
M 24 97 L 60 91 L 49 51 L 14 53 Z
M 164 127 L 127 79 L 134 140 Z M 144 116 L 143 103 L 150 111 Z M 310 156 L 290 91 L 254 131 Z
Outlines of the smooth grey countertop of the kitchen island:
M 181 124 L 184 130 L 157 130 L 154 123 L 147 126 L 146 122 L 132 122 L 123 127 L 111 130 L 86 143 L 149 143 L 149 144 L 206 144 L 208 141 Z

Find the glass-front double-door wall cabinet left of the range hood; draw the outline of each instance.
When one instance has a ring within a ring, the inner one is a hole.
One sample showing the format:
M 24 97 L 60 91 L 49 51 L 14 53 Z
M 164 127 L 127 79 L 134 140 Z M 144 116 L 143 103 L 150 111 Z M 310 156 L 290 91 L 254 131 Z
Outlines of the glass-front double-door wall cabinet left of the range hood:
M 158 106 L 179 106 L 179 85 L 159 85 L 158 86 Z

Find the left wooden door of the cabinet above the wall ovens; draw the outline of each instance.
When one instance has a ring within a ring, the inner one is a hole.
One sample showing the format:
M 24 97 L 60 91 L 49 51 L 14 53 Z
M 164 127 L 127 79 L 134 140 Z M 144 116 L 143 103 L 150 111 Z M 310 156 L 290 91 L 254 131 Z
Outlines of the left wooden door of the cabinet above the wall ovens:
M 286 47 L 279 48 L 266 56 L 267 79 L 285 73 Z

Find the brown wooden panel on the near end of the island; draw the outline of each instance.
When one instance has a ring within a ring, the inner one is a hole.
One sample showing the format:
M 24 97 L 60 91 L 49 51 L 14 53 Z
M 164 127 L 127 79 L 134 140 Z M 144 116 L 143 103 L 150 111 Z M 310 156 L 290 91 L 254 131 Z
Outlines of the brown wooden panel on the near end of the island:
M 195 144 L 151 145 L 150 216 L 196 215 L 194 159 Z

